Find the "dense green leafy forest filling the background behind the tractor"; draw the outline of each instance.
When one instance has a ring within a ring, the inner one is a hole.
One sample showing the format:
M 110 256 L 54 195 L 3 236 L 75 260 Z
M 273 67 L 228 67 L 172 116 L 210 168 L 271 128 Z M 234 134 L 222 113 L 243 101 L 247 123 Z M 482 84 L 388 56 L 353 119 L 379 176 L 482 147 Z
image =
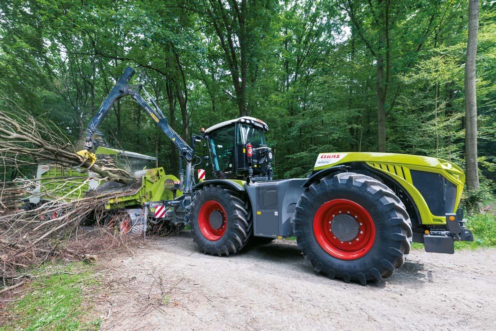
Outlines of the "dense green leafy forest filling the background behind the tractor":
M 482 1 L 479 165 L 492 180 L 495 18 Z M 185 141 L 241 115 L 265 121 L 276 178 L 304 176 L 331 151 L 463 166 L 467 29 L 461 0 L 4 0 L 0 103 L 76 141 L 131 66 L 132 83 L 146 87 Z M 174 145 L 130 98 L 100 130 L 177 173 Z

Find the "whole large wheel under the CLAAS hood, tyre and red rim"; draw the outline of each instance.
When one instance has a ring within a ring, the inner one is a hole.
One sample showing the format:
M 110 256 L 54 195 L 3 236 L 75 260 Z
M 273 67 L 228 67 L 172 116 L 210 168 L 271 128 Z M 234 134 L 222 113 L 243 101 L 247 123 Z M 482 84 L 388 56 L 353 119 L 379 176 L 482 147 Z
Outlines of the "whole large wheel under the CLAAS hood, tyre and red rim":
M 387 186 L 366 175 L 341 173 L 303 192 L 294 234 L 315 271 L 365 285 L 403 265 L 412 230 L 403 204 Z

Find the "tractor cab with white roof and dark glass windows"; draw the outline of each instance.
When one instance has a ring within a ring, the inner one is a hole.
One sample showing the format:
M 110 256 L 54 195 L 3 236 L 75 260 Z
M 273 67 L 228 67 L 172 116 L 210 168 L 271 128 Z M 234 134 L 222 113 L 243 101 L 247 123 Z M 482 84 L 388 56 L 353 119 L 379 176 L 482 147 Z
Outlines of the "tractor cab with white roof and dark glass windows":
M 208 141 L 214 175 L 222 179 L 271 179 L 273 154 L 266 144 L 264 133 L 267 130 L 267 124 L 249 116 L 206 129 L 204 136 Z

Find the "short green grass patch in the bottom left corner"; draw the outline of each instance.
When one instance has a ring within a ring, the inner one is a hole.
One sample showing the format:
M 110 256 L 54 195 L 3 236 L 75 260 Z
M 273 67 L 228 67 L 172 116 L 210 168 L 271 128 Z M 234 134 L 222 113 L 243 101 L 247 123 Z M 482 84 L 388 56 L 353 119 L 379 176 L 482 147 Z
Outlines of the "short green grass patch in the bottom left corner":
M 101 321 L 85 321 L 85 289 L 98 285 L 92 268 L 75 262 L 49 264 L 33 271 L 39 278 L 33 278 L 18 302 L 7 306 L 9 319 L 0 331 L 98 330 Z M 43 276 L 47 274 L 54 275 Z

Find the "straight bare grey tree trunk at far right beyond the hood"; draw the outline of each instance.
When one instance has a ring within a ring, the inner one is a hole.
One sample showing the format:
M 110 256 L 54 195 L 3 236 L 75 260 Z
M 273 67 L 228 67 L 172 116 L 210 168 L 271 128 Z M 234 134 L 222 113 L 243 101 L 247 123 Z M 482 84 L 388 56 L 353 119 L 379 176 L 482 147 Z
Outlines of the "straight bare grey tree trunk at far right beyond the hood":
M 469 3 L 469 39 L 465 62 L 465 166 L 467 189 L 479 189 L 477 165 L 477 98 L 476 98 L 476 55 L 479 25 L 479 0 Z

